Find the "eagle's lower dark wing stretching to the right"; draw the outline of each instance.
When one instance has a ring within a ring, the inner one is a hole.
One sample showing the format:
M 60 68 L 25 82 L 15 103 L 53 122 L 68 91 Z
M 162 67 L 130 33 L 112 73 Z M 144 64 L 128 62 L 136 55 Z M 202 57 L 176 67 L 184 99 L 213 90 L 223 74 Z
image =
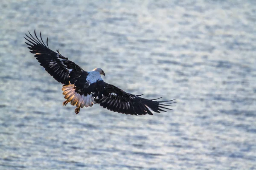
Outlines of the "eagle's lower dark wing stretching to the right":
M 153 115 L 151 111 L 160 113 L 160 111 L 165 111 L 163 109 L 172 110 L 167 107 L 171 107 L 173 105 L 170 104 L 176 103 L 174 102 L 175 99 L 168 101 L 144 99 L 140 97 L 142 95 L 126 93 L 116 86 L 110 85 L 103 81 L 101 82 L 100 88 L 97 92 L 98 93 L 96 93 L 96 95 L 94 94 L 94 96 L 98 96 L 95 98 L 95 101 L 103 108 L 107 108 L 110 111 L 131 115 Z

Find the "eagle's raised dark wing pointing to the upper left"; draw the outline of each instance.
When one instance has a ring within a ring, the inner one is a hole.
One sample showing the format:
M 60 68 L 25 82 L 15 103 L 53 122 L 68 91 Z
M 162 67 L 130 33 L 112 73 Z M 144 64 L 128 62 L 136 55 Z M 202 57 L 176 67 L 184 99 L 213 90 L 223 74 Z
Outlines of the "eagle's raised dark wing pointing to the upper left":
M 35 33 L 35 31 L 34 31 Z M 58 82 L 68 85 L 70 81 L 76 82 L 82 74 L 87 74 L 82 68 L 70 61 L 67 57 L 62 56 L 52 51 L 48 46 L 48 37 L 46 45 L 42 39 L 40 32 L 40 39 L 38 39 L 36 33 L 33 37 L 30 32 L 28 36 L 24 37 L 28 42 L 25 42 L 30 52 L 35 54 L 36 59 L 40 62 L 40 65 Z

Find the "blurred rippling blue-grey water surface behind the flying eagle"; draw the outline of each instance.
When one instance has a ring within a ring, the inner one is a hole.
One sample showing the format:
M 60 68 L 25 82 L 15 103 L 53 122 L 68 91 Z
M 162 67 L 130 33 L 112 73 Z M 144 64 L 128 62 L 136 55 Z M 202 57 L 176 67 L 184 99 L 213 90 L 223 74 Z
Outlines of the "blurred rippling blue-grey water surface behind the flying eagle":
M 2 0 L 0 170 L 255 170 L 255 0 Z M 62 106 L 61 84 L 24 43 L 173 111 Z

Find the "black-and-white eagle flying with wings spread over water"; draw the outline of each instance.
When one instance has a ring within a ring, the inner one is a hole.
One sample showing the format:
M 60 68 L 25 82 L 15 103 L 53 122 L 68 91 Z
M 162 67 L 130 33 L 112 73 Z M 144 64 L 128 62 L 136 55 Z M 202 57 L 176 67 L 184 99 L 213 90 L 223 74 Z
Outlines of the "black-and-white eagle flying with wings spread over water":
M 69 102 L 76 106 L 75 113 L 80 108 L 91 107 L 99 104 L 110 111 L 131 115 L 153 115 L 153 112 L 172 110 L 175 99 L 157 101 L 158 99 L 145 99 L 141 95 L 127 93 L 120 88 L 103 81 L 101 75 L 105 72 L 101 68 L 94 68 L 92 71 L 84 71 L 79 65 L 57 52 L 52 51 L 48 46 L 48 37 L 44 43 L 41 32 L 40 39 L 36 31 L 35 36 L 25 34 L 24 37 L 28 48 L 41 66 L 58 82 L 62 83 L 64 98 L 63 105 Z

